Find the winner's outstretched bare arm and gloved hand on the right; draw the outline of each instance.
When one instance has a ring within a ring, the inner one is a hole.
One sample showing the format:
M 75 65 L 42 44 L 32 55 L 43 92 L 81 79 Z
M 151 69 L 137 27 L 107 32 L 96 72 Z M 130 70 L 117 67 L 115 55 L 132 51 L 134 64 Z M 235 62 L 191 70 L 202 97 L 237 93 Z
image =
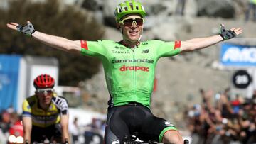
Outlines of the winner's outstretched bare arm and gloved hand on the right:
M 220 33 L 218 35 L 213 35 L 206 38 L 193 38 L 191 40 L 186 40 L 181 42 L 181 52 L 189 52 L 193 50 L 198 50 L 206 48 L 210 45 L 214 45 L 223 40 L 228 40 L 234 38 L 242 33 L 242 28 L 231 28 L 230 30 L 225 30 L 224 26 L 220 26 Z

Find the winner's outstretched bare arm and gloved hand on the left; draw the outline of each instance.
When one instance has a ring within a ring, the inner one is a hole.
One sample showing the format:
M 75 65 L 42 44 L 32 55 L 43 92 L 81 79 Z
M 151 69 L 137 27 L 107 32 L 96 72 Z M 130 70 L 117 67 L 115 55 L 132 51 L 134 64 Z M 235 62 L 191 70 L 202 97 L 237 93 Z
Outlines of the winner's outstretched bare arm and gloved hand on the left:
M 26 26 L 21 26 L 18 23 L 7 23 L 6 26 L 25 35 L 33 37 L 36 40 L 49 45 L 50 47 L 58 48 L 59 50 L 64 50 L 67 52 L 80 52 L 80 40 L 73 41 L 68 40 L 67 38 L 41 33 L 33 28 L 33 25 L 30 21 L 27 21 Z

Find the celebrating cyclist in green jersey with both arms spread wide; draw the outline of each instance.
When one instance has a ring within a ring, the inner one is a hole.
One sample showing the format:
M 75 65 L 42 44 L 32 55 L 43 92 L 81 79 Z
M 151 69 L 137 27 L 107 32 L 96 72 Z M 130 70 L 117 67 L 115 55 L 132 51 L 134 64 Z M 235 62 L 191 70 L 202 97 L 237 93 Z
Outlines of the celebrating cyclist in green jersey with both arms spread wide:
M 117 28 L 122 40 L 68 40 L 35 31 L 32 23 L 26 26 L 8 23 L 7 26 L 53 48 L 98 57 L 105 70 L 107 88 L 110 92 L 105 143 L 122 143 L 125 135 L 137 132 L 141 140 L 160 143 L 183 143 L 181 134 L 169 121 L 154 116 L 150 111 L 156 62 L 161 57 L 172 57 L 190 52 L 242 33 L 241 28 L 225 30 L 206 38 L 186 41 L 141 41 L 146 11 L 138 1 L 124 1 L 115 10 Z

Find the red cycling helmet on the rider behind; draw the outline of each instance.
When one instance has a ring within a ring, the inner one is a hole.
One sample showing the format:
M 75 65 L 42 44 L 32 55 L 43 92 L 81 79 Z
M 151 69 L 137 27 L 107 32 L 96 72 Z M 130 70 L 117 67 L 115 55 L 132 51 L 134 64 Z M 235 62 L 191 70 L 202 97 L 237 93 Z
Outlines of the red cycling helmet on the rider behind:
M 46 88 L 53 88 L 55 81 L 53 77 L 50 77 L 48 74 L 41 74 L 36 79 L 34 79 L 34 87 L 36 89 L 46 89 Z

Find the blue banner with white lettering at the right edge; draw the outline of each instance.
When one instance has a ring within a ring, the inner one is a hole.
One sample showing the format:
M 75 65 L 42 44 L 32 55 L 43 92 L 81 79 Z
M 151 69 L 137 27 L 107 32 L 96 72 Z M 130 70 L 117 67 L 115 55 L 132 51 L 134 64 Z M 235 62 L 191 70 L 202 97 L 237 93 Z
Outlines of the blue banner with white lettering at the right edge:
M 223 43 L 220 62 L 225 66 L 256 66 L 256 46 Z

